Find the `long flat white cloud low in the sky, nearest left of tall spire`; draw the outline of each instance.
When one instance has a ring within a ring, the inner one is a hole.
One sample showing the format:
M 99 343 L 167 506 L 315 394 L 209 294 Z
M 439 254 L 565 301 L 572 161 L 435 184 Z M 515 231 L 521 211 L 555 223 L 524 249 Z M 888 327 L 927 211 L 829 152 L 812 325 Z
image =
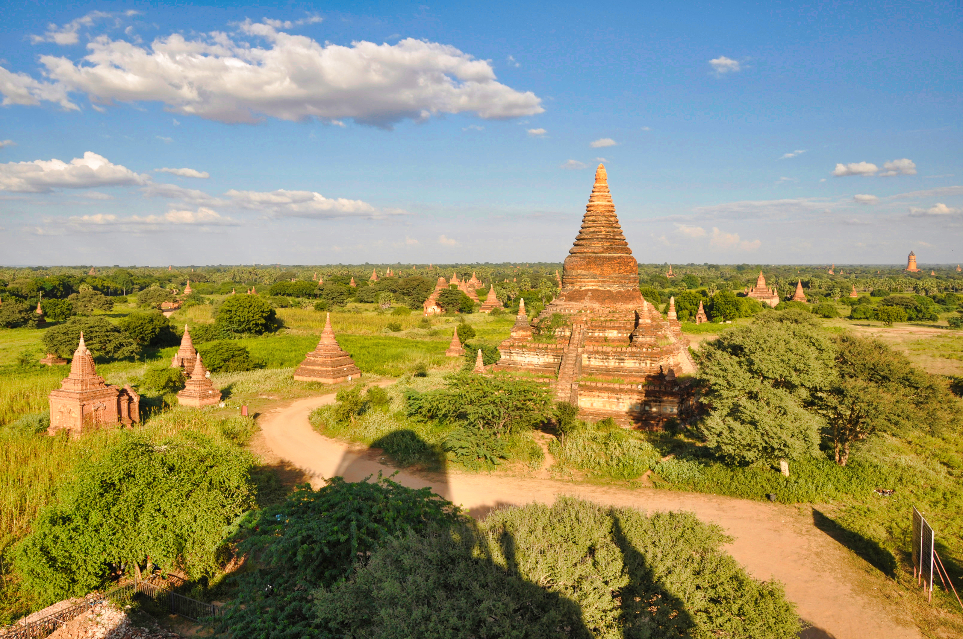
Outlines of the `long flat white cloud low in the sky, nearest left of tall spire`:
M 313 191 L 228 191 L 235 206 L 252 211 L 264 211 L 276 217 L 385 217 L 403 215 L 394 209 L 378 210 L 367 202 L 344 197 L 329 198 Z

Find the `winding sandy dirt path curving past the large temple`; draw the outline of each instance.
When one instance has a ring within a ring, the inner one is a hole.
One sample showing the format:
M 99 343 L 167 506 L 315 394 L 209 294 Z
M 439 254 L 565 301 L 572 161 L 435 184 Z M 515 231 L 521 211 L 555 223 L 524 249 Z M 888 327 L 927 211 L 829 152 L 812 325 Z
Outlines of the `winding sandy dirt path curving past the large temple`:
M 390 381 L 382 382 L 384 384 Z M 299 399 L 259 419 L 264 444 L 277 457 L 298 468 L 315 486 L 341 475 L 358 481 L 395 469 L 356 447 L 326 438 L 308 422 L 309 413 L 334 401 L 334 395 Z M 864 575 L 852 566 L 848 551 L 821 532 L 791 506 L 747 499 L 660 490 L 625 490 L 567 483 L 551 479 L 448 472 L 429 476 L 401 472 L 405 486 L 430 486 L 444 498 L 481 517 L 503 504 L 532 501 L 552 503 L 560 495 L 642 510 L 685 510 L 699 519 L 720 524 L 735 538 L 727 550 L 759 579 L 776 578 L 786 585 L 799 616 L 813 627 L 808 639 L 917 639 L 908 620 L 881 597 L 857 592 L 852 584 Z

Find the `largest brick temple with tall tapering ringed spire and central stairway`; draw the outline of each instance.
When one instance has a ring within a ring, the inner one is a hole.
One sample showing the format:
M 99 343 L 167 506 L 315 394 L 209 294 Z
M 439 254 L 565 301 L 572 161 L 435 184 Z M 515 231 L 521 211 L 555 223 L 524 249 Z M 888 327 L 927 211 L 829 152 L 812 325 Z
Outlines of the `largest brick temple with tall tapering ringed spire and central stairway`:
M 524 305 L 499 345 L 496 371 L 551 382 L 582 419 L 660 427 L 680 409 L 689 340 L 638 291 L 638 262 L 615 216 L 605 166 L 595 171 L 582 230 L 565 258 L 561 292 L 531 324 Z

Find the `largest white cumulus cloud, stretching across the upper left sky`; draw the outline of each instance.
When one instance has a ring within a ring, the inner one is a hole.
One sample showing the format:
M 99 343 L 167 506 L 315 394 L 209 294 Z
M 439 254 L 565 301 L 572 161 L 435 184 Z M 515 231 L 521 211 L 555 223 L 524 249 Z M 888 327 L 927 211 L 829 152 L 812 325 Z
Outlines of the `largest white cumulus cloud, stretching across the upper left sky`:
M 249 20 L 238 25 L 243 36 L 261 38 L 265 46 L 221 32 L 193 39 L 172 34 L 143 46 L 99 36 L 83 61 L 40 56 L 53 84 L 0 69 L 0 90 L 5 104 L 64 104 L 66 91 L 79 91 L 92 103 L 157 101 L 176 114 L 245 123 L 266 116 L 351 118 L 388 128 L 438 114 L 507 118 L 544 111 L 532 91 L 501 84 L 489 62 L 451 45 L 415 38 L 321 44 L 277 30 L 285 26 Z

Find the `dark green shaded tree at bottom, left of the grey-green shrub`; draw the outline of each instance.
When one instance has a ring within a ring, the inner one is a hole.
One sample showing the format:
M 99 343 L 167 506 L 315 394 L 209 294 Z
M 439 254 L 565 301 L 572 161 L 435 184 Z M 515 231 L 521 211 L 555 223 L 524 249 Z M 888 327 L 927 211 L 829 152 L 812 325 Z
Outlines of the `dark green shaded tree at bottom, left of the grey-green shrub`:
M 414 490 L 380 476 L 348 483 L 332 477 L 320 490 L 299 487 L 282 504 L 250 513 L 240 550 L 256 557 L 239 574 L 238 597 L 218 631 L 237 639 L 325 636 L 313 592 L 348 578 L 382 544 L 461 521 L 429 488 Z

